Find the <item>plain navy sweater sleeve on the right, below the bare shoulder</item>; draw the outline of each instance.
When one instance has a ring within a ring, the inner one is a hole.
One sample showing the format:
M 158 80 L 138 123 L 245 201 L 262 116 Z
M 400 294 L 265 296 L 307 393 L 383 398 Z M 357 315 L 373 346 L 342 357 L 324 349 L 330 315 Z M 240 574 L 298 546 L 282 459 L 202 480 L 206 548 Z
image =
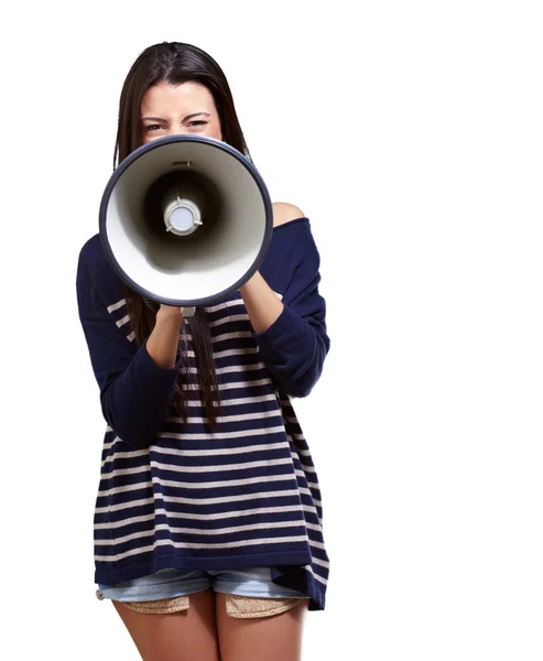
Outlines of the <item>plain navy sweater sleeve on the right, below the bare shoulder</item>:
M 292 397 L 309 394 L 330 347 L 326 302 L 318 291 L 319 263 L 317 247 L 308 235 L 283 295 L 282 313 L 264 332 L 252 334 L 279 389 Z

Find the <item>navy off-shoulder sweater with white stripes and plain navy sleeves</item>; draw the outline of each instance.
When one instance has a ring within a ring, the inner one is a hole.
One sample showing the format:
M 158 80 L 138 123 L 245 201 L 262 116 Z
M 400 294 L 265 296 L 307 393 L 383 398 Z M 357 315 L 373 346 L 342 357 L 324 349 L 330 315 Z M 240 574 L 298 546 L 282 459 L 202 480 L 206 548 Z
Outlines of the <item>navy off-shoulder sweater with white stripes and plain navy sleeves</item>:
M 171 408 L 178 370 L 195 372 L 191 325 L 174 368 L 135 346 L 122 285 L 99 236 L 77 269 L 79 317 L 107 422 L 95 509 L 95 582 L 161 568 L 269 566 L 272 581 L 325 607 L 329 562 L 311 452 L 291 402 L 307 395 L 329 349 L 309 220 L 274 228 L 260 273 L 284 308 L 252 330 L 237 292 L 205 308 L 219 380 L 209 432 L 198 389 L 186 424 Z

